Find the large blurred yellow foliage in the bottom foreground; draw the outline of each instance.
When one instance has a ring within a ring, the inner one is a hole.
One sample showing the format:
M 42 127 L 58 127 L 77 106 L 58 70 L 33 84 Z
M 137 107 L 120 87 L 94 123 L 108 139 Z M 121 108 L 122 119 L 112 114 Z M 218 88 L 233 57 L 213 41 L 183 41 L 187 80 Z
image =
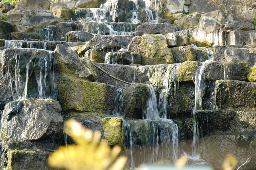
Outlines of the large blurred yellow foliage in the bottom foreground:
M 68 170 L 121 170 L 127 158 L 117 158 L 121 151 L 119 146 L 112 149 L 101 140 L 101 133 L 84 128 L 76 120 L 65 122 L 64 132 L 71 136 L 77 145 L 61 146 L 49 156 L 48 163 L 55 168 Z

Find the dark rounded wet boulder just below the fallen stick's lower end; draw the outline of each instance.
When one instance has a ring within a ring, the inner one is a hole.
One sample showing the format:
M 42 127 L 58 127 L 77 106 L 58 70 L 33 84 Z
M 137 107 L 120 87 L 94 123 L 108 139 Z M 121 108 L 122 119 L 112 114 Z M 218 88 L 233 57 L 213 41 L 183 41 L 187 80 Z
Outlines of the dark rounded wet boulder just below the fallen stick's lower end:
M 149 87 L 136 83 L 126 87 L 124 91 L 123 111 L 126 118 L 143 119 L 149 97 Z

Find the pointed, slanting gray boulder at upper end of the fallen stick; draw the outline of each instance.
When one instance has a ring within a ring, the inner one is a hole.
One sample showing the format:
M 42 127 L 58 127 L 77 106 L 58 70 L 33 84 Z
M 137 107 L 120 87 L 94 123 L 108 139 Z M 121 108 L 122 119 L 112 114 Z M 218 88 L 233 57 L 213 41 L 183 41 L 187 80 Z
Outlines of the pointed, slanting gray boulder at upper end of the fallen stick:
M 53 53 L 57 62 L 58 74 L 61 77 L 77 77 L 91 81 L 97 80 L 97 74 L 93 63 L 89 58 L 79 58 L 72 49 L 58 44 Z

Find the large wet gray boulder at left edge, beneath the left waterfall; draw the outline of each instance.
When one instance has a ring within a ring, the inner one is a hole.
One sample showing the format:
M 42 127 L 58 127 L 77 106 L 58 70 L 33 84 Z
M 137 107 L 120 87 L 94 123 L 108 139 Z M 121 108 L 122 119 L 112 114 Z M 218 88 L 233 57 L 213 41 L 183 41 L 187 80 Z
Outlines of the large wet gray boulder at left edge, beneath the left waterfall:
M 63 128 L 60 112 L 54 100 L 10 102 L 3 111 L 1 139 L 19 142 L 57 137 Z

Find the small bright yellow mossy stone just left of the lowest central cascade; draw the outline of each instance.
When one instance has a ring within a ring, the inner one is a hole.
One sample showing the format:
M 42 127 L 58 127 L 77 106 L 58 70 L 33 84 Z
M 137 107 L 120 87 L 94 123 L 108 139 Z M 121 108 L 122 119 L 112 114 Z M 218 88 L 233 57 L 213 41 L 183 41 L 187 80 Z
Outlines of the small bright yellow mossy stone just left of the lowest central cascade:
M 123 145 L 123 125 L 119 117 L 106 117 L 100 120 L 104 130 L 104 139 L 108 145 Z

